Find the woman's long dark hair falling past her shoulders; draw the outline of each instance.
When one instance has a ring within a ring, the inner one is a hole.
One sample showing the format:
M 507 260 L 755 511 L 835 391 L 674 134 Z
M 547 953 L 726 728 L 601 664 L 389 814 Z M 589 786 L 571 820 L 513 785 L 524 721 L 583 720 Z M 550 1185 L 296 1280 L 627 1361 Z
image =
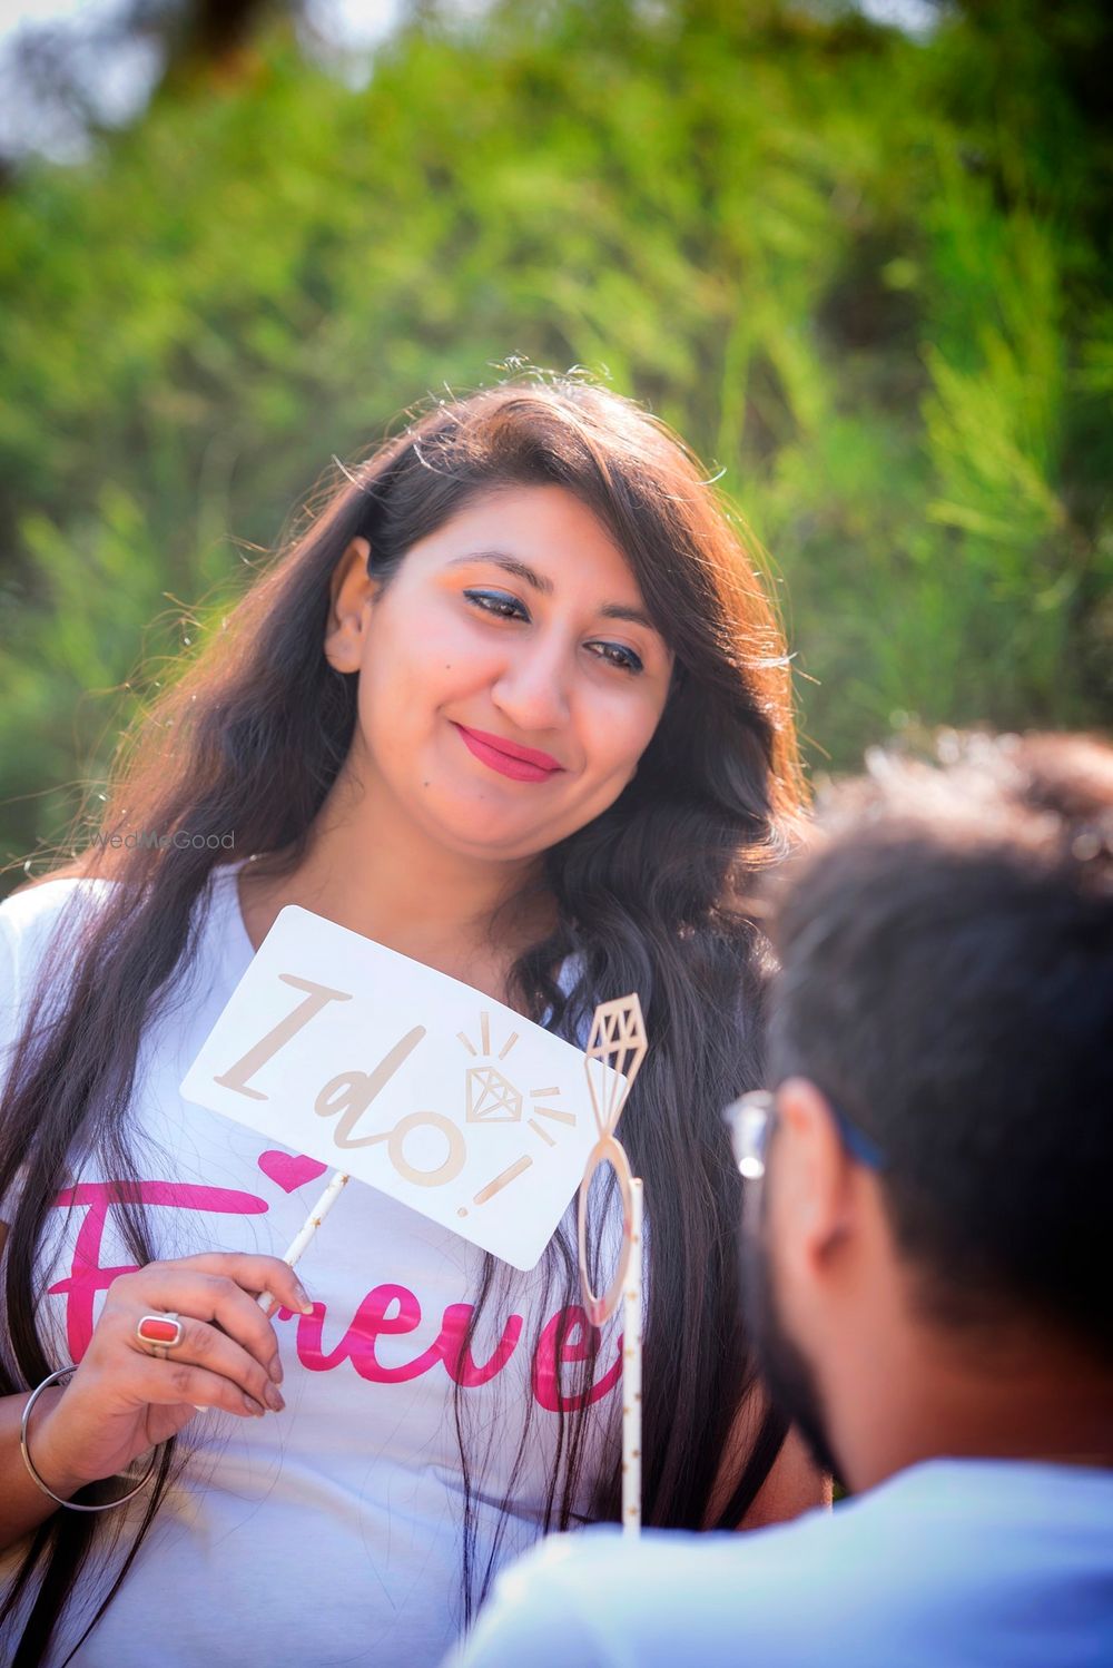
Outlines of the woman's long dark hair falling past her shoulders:
M 58 872 L 110 877 L 80 942 L 47 957 L 12 1063 L 0 1128 L 0 1198 L 18 1198 L 7 1241 L 7 1359 L 0 1391 L 52 1369 L 35 1326 L 37 1248 L 52 1199 L 80 1141 L 127 1184 L 135 1164 L 123 1136 L 143 1027 L 188 966 L 195 902 L 222 861 L 205 836 L 235 829 L 237 846 L 273 874 L 292 871 L 345 761 L 357 714 L 357 674 L 330 667 L 323 634 L 330 579 L 350 540 L 370 542 L 370 570 L 390 580 L 418 539 L 502 485 L 558 484 L 575 494 L 626 554 L 648 612 L 675 651 L 658 729 L 635 779 L 600 817 L 545 854 L 556 926 L 517 961 L 510 987 L 532 1017 L 573 1029 L 596 1001 L 638 991 L 650 1054 L 623 1113 L 633 1173 L 645 1178 L 648 1319 L 645 1336 L 643 1515 L 646 1525 L 735 1526 L 768 1476 L 785 1436 L 768 1411 L 728 1486 L 715 1491 L 728 1434 L 753 1384 L 735 1288 L 740 1178 L 720 1109 L 761 1081 L 766 951 L 746 906 L 756 867 L 790 842 L 803 789 L 795 749 L 783 637 L 766 587 L 731 515 L 698 460 L 658 419 L 581 377 L 515 377 L 412 415 L 368 460 L 342 467 L 308 524 L 250 585 L 200 656 L 125 737 L 100 819 L 80 864 Z M 113 849 L 112 834 L 188 831 L 185 849 Z M 218 842 L 215 842 L 218 846 Z M 48 879 L 52 876 L 43 876 Z M 77 934 L 70 934 L 72 939 Z M 42 997 L 62 956 L 72 977 L 45 1022 Z M 580 979 L 555 981 L 566 956 Z M 12 1191 L 8 1191 L 12 1189 Z M 127 1186 L 123 1186 L 127 1199 Z M 120 1211 L 137 1264 L 153 1249 L 142 1206 Z M 543 1263 L 578 1303 L 575 1246 L 558 1231 Z M 508 1271 L 485 1259 L 472 1326 Z M 571 1323 L 568 1323 L 571 1324 Z M 678 1349 L 683 1336 L 685 1348 Z M 591 1333 L 581 1384 L 591 1381 Z M 570 1349 L 570 1354 L 575 1354 Z M 560 1359 L 560 1339 L 558 1339 Z M 576 1521 L 585 1465 L 586 1396 L 560 1413 L 545 1530 Z M 465 1496 L 467 1408 L 455 1389 Z M 528 1421 L 517 1441 L 517 1475 Z M 105 1605 L 118 1590 L 170 1475 L 170 1449 Z M 616 1518 L 620 1468 L 608 1451 L 588 1480 L 591 1515 Z M 465 1515 L 465 1618 L 487 1590 L 492 1558 L 475 1568 Z M 15 1663 L 43 1660 L 55 1621 L 87 1558 L 93 1518 L 58 1511 L 33 1536 L 0 1621 L 38 1573 Z

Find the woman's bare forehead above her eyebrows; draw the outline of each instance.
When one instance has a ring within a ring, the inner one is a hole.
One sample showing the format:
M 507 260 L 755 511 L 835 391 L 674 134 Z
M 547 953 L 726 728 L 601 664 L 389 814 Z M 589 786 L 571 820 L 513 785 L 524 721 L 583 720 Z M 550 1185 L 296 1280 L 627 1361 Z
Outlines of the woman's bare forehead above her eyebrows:
M 415 544 L 403 570 L 430 574 L 462 555 L 515 555 L 556 589 L 583 584 L 606 600 L 640 599 L 638 582 L 608 529 L 565 487 L 500 487 L 472 499 Z

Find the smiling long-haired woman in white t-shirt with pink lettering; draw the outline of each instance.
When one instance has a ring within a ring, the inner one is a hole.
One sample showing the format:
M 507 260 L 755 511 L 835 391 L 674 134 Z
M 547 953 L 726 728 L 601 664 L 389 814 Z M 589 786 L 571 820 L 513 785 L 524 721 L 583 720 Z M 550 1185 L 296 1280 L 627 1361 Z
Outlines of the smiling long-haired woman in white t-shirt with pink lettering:
M 798 806 L 760 579 L 633 402 L 508 382 L 345 475 L 145 719 L 78 874 L 0 907 L 18 1665 L 432 1663 L 503 1558 L 618 1515 L 615 1334 L 578 1308 L 575 1201 L 520 1274 L 350 1188 L 307 1298 L 277 1258 L 318 1166 L 177 1096 L 288 902 L 571 1039 L 640 992 L 645 1521 L 821 1498 L 735 1319 L 720 1123 L 760 1083 L 743 886 Z M 613 1204 L 593 1191 L 600 1264 Z M 182 1318 L 173 1359 L 150 1311 Z M 27 1393 L 68 1363 L 25 1460 Z M 127 1505 L 72 1510 L 127 1493 L 152 1444 Z

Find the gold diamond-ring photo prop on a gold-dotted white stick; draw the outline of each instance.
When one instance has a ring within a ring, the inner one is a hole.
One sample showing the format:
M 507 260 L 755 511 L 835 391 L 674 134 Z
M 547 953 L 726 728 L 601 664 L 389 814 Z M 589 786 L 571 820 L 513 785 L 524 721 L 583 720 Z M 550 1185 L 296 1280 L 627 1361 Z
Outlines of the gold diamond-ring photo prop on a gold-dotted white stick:
M 633 1081 L 648 1048 L 641 1002 L 636 992 L 611 1002 L 600 1002 L 591 1021 L 583 1069 L 591 1093 L 600 1139 L 591 1148 L 583 1181 L 576 1229 L 580 1243 L 580 1289 L 591 1326 L 603 1321 L 623 1303 L 621 1343 L 621 1525 L 625 1535 L 641 1528 L 641 1181 L 630 1174 L 630 1159 L 615 1138 L 615 1126 L 626 1104 Z M 600 1164 L 610 1164 L 621 1193 L 621 1253 L 618 1269 L 606 1294 L 591 1289 L 586 1258 L 586 1206 L 591 1178 Z

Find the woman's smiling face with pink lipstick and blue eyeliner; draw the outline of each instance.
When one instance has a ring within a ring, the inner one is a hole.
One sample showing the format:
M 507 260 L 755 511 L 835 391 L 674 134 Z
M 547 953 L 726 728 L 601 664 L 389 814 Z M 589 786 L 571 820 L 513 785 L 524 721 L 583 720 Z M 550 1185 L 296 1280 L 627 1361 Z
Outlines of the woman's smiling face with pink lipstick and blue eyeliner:
M 527 857 L 635 774 L 673 657 L 626 560 L 563 487 L 507 487 L 367 579 L 353 540 L 327 652 L 358 671 L 360 771 L 442 846 Z

